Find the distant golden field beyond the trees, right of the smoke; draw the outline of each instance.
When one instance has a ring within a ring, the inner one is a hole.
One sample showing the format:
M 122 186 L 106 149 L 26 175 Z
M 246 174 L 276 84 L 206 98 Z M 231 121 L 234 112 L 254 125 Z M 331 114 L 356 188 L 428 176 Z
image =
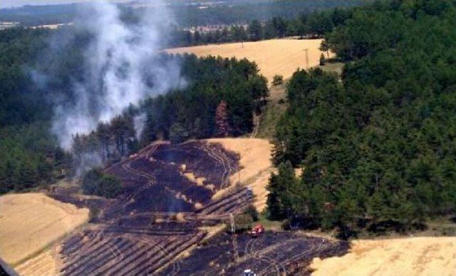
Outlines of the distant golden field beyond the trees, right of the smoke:
M 195 53 L 197 56 L 222 56 L 224 58 L 247 58 L 255 61 L 261 73 L 269 81 L 275 74 L 289 78 L 296 68 L 306 68 L 306 49 L 308 49 L 309 66 L 317 66 L 321 51 L 318 46 L 321 39 L 271 39 L 256 42 L 210 44 L 182 48 L 170 48 L 168 53 Z M 329 53 L 329 56 L 333 56 Z M 325 57 L 326 53 L 325 53 Z

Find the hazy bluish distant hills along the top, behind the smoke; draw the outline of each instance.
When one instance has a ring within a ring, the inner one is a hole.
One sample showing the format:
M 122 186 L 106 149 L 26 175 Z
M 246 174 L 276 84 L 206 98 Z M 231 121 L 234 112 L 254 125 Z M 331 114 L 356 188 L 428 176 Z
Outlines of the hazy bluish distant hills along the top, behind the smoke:
M 333 7 L 349 7 L 366 0 L 237 0 L 237 1 L 166 1 L 180 26 L 246 23 L 254 19 L 267 20 L 274 16 L 291 18 L 301 13 Z M 157 1 L 131 1 L 120 4 L 125 9 L 153 9 Z M 26 5 L 0 9 L 1 21 L 18 21 L 26 26 L 61 24 L 73 21 L 78 4 Z

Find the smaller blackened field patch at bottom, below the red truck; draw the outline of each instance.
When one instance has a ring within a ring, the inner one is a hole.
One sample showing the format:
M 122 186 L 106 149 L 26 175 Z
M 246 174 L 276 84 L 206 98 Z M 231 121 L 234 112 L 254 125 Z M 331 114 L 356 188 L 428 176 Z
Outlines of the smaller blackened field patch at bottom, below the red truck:
M 265 232 L 258 238 L 237 235 L 237 250 L 232 238 L 227 233 L 217 235 L 190 257 L 173 262 L 162 275 L 242 275 L 245 269 L 257 275 L 280 275 L 298 265 L 304 270 L 313 257 L 343 255 L 348 250 L 348 242 L 293 232 Z

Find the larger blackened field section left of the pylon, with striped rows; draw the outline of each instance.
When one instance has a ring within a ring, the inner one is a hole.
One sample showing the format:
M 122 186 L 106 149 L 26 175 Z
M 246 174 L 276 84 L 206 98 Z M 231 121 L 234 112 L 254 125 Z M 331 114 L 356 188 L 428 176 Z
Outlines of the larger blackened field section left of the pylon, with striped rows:
M 63 242 L 61 272 L 141 275 L 165 267 L 204 238 L 198 225 L 227 218 L 251 203 L 252 193 L 242 188 L 211 201 L 217 190 L 229 185 L 238 160 L 217 144 L 155 143 L 110 166 L 106 171 L 122 180 L 122 194 L 92 203 L 100 213 L 93 225 Z M 89 204 L 71 194 L 54 198 Z

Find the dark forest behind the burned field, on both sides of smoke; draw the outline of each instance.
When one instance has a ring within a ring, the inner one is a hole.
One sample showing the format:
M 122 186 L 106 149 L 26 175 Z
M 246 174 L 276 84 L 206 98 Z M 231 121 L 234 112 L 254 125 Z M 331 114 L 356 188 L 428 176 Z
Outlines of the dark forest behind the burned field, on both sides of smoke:
M 0 193 L 52 183 L 77 173 L 85 153 L 99 153 L 105 163 L 118 160 L 157 138 L 239 136 L 252 130 L 252 114 L 268 96 L 266 78 L 247 60 L 161 55 L 182 66 L 183 88 L 130 106 L 87 136 L 75 136 L 73 154 L 51 134 L 56 98 L 74 101 L 71 81 L 83 81 L 87 34 L 73 36 L 48 55 L 51 37 L 72 29 L 8 29 L 0 36 Z M 46 85 L 40 72 L 46 71 Z M 153 85 L 153 84 L 151 84 Z M 220 107 L 222 108 L 220 108 Z M 216 109 L 219 112 L 216 114 Z M 137 133 L 135 122 L 145 126 Z

